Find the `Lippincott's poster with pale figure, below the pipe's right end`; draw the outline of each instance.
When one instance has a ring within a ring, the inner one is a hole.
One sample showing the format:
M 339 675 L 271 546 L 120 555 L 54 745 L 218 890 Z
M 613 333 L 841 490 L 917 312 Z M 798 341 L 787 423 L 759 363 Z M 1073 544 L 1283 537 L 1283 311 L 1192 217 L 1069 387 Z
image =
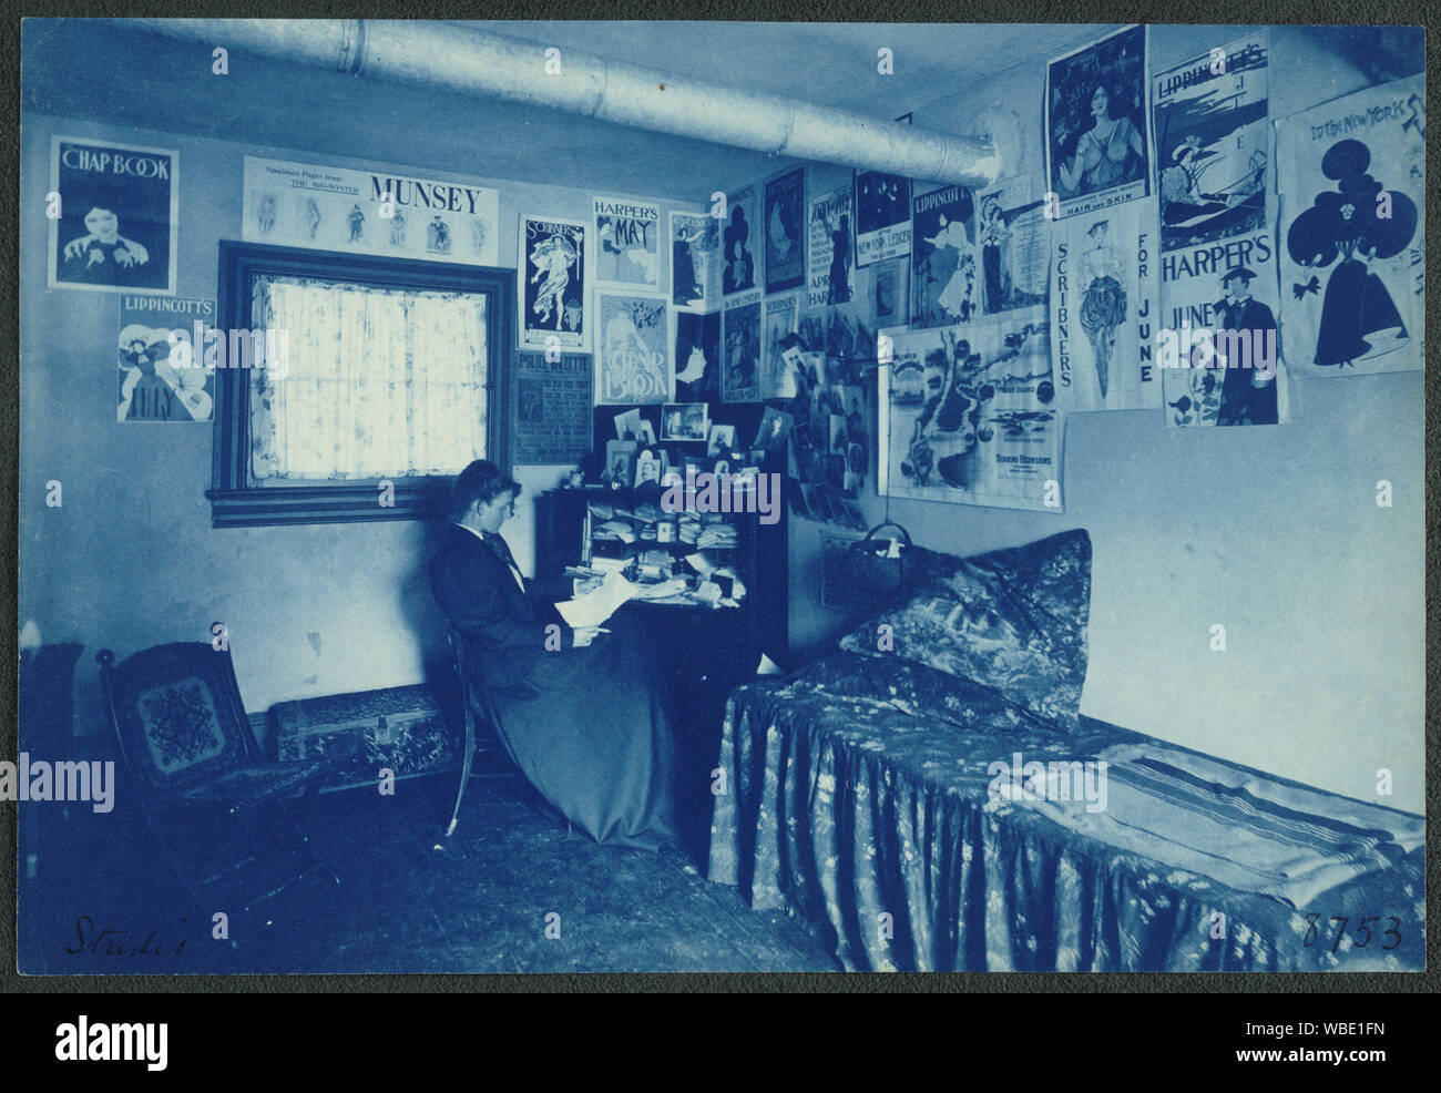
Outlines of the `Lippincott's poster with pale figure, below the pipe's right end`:
M 971 192 L 942 186 L 912 206 L 911 329 L 968 323 L 980 307 Z

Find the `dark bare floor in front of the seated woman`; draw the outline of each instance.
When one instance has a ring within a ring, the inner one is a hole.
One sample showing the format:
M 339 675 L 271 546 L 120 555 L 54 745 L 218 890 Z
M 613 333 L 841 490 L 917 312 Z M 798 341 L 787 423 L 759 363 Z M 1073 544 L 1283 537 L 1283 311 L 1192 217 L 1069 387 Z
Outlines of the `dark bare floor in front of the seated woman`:
M 450 839 L 450 777 L 395 789 L 320 797 L 305 831 L 342 884 L 281 893 L 261 919 L 235 921 L 231 942 L 210 939 L 209 908 L 177 893 L 154 854 L 130 855 L 122 877 L 76 867 L 27 919 L 30 963 L 72 975 L 839 970 L 798 924 L 752 911 L 683 852 L 598 846 L 542 815 L 519 779 L 474 780 Z M 82 862 L 104 855 L 95 836 L 118 835 L 95 826 Z M 137 825 L 137 845 L 147 836 Z M 94 923 L 84 946 L 81 914 Z M 159 943 L 184 937 L 184 952 L 125 955 L 108 939 L 95 952 L 99 920 L 131 947 L 154 930 Z

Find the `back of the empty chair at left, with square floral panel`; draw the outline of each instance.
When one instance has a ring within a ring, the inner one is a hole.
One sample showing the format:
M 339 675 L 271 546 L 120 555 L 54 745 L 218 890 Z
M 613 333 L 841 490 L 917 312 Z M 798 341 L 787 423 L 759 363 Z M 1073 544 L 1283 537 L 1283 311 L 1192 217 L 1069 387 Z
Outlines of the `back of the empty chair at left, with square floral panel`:
M 120 665 L 110 649 L 95 660 L 125 763 L 148 790 L 167 796 L 264 761 L 228 649 L 171 642 Z

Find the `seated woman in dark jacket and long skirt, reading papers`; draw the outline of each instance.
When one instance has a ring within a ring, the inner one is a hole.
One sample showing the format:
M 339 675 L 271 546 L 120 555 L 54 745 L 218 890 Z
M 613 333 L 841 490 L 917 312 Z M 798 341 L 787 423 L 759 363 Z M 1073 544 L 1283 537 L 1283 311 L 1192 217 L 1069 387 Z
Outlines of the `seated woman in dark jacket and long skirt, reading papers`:
M 500 738 L 540 795 L 599 844 L 659 849 L 676 838 L 664 676 L 624 614 L 611 633 L 572 630 L 527 598 L 499 534 L 519 492 L 488 460 L 460 473 L 431 590 L 484 663 Z

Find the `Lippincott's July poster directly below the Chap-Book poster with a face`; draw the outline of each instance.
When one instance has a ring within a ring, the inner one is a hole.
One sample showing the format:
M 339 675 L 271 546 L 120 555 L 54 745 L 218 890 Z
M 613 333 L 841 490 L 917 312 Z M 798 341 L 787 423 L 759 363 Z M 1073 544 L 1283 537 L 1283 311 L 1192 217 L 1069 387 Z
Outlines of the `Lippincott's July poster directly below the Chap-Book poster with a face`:
M 215 300 L 120 297 L 118 421 L 210 421 L 219 352 L 206 332 L 215 317 Z

